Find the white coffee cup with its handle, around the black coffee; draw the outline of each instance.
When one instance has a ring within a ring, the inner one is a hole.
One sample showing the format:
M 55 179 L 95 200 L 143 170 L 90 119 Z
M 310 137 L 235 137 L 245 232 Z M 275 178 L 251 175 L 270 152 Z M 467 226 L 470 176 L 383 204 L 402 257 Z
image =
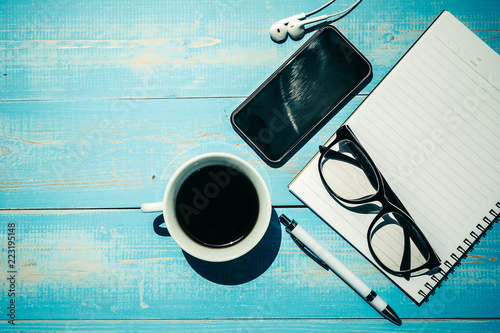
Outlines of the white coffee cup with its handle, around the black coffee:
M 211 165 L 229 166 L 241 172 L 251 181 L 258 196 L 257 220 L 250 233 L 236 243 L 223 247 L 207 246 L 195 241 L 184 231 L 176 217 L 175 203 L 181 185 L 195 171 Z M 145 213 L 163 211 L 169 234 L 184 251 L 201 260 L 221 262 L 241 257 L 260 242 L 269 226 L 272 206 L 264 179 L 248 162 L 227 153 L 207 153 L 187 161 L 175 171 L 167 184 L 162 202 L 144 203 L 141 210 Z

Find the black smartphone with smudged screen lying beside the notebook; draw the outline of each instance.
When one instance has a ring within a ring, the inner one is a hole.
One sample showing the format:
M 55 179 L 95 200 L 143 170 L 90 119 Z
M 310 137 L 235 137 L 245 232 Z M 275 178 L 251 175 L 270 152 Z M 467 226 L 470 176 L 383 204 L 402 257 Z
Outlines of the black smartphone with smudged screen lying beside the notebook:
M 231 123 L 265 161 L 280 164 L 371 77 L 370 62 L 328 25 L 233 111 Z

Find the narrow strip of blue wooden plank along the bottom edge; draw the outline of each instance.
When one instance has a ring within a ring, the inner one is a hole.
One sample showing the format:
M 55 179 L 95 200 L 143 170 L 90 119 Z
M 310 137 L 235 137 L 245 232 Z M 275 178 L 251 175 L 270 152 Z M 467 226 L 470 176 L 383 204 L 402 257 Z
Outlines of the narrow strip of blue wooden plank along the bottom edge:
M 10 332 L 53 331 L 140 331 L 140 332 L 498 332 L 500 321 L 405 320 L 398 327 L 383 319 L 275 319 L 275 320 L 75 320 L 20 321 L 15 327 L 0 323 Z

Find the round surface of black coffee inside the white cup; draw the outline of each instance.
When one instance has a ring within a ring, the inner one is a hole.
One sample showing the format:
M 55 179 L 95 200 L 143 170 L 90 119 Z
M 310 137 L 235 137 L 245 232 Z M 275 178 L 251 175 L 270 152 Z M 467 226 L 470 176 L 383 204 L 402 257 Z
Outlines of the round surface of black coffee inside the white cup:
M 204 166 L 182 183 L 175 202 L 180 226 L 211 247 L 232 245 L 247 236 L 259 214 L 259 197 L 250 179 L 227 165 Z

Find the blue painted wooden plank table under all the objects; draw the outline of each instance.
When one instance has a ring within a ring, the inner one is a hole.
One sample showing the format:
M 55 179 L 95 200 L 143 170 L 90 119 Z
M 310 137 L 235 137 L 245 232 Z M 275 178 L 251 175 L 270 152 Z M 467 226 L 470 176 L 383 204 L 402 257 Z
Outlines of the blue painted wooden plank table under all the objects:
M 372 82 L 273 169 L 229 116 L 311 35 L 275 44 L 271 24 L 324 2 L 0 1 L 0 329 L 500 330 L 500 228 L 418 307 L 287 189 L 443 9 L 500 52 L 500 3 L 362 1 L 334 24 L 373 64 Z M 217 264 L 183 253 L 155 232 L 161 216 L 139 210 L 183 162 L 213 151 L 254 165 L 274 207 L 263 241 Z M 281 213 L 376 288 L 403 326 L 305 256 Z

